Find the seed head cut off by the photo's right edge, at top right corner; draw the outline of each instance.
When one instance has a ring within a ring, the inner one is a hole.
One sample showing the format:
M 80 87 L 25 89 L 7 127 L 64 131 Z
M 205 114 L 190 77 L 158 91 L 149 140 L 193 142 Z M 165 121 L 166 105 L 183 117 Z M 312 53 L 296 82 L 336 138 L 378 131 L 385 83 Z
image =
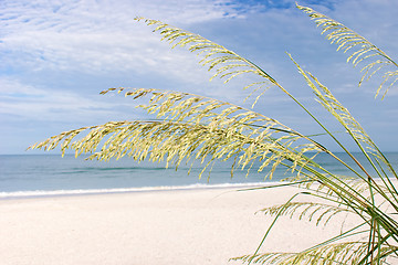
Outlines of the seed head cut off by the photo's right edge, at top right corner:
M 322 34 L 326 34 L 326 39 L 329 40 L 332 44 L 338 45 L 337 51 L 342 50 L 344 53 L 348 53 L 348 63 L 350 62 L 354 66 L 357 66 L 359 63 L 366 62 L 366 65 L 363 68 L 366 71 L 360 78 L 359 85 L 364 80 L 369 80 L 377 72 L 387 67 L 381 74 L 384 81 L 376 91 L 377 97 L 383 91 L 383 87 L 385 87 L 383 93 L 384 98 L 389 88 L 391 88 L 397 81 L 395 78 L 398 73 L 397 63 L 379 47 L 344 24 L 311 8 L 298 4 L 296 4 L 296 7 L 307 13 L 308 17 L 314 20 L 316 26 L 322 28 Z M 395 71 L 390 71 L 391 68 L 395 68 Z M 395 74 L 391 75 L 391 73 Z

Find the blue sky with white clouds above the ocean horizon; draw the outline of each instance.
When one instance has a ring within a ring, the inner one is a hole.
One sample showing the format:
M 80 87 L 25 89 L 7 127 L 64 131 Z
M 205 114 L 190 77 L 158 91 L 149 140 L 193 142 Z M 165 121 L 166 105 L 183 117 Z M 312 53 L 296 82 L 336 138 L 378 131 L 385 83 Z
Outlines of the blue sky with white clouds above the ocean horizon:
M 397 59 L 398 1 L 297 2 Z M 185 91 L 242 103 L 239 80 L 209 83 L 211 73 L 198 65 L 196 55 L 170 50 L 150 28 L 135 22 L 136 15 L 193 31 L 247 56 L 327 121 L 285 54 L 291 53 L 345 104 L 381 150 L 398 151 L 398 87 L 383 102 L 374 98 L 377 80 L 358 87 L 359 68 L 345 63 L 346 56 L 320 35 L 294 1 L 2 0 L 0 153 L 25 153 L 28 146 L 64 130 L 145 117 L 130 98 L 98 95 L 108 87 Z M 256 110 L 304 134 L 321 131 L 276 89 L 262 97 Z M 333 121 L 331 127 L 341 130 Z

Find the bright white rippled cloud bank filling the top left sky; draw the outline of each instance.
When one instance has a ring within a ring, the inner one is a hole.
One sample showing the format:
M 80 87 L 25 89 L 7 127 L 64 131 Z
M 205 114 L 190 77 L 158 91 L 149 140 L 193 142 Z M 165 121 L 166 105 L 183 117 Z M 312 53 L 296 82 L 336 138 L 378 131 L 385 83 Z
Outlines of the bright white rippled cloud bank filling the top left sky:
M 32 71 L 139 71 L 150 67 L 154 57 L 174 68 L 169 47 L 155 49 L 156 36 L 134 22 L 136 15 L 188 24 L 238 15 L 222 1 L 3 1 L 1 6 L 2 57 L 8 66 Z

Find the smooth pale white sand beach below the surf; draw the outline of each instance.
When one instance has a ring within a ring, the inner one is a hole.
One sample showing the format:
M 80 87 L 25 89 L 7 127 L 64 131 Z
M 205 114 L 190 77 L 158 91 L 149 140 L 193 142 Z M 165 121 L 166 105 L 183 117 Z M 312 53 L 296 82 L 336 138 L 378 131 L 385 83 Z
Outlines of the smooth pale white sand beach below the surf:
M 255 212 L 285 202 L 293 191 L 208 189 L 1 200 L 0 261 L 239 264 L 229 258 L 253 253 L 272 221 Z M 339 229 L 281 219 L 262 250 L 298 251 Z

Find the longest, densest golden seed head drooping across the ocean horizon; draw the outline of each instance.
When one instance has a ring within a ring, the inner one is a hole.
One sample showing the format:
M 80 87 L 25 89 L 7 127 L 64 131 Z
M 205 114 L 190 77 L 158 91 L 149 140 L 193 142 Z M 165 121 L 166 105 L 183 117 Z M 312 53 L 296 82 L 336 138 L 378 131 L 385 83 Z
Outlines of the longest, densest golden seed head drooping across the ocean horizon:
M 85 130 L 88 131 L 84 137 L 72 142 Z M 203 163 L 207 158 L 227 160 L 237 157 L 238 165 L 244 169 L 250 161 L 259 158 L 261 151 L 283 151 L 272 142 L 263 139 L 259 142 L 259 139 L 223 128 L 222 124 L 117 121 L 62 132 L 31 148 L 50 150 L 61 145 L 62 152 L 73 149 L 76 156 L 93 153 L 90 159 L 108 160 L 129 156 L 137 161 L 167 161 L 167 165 L 176 168 L 190 159 L 199 159 Z

